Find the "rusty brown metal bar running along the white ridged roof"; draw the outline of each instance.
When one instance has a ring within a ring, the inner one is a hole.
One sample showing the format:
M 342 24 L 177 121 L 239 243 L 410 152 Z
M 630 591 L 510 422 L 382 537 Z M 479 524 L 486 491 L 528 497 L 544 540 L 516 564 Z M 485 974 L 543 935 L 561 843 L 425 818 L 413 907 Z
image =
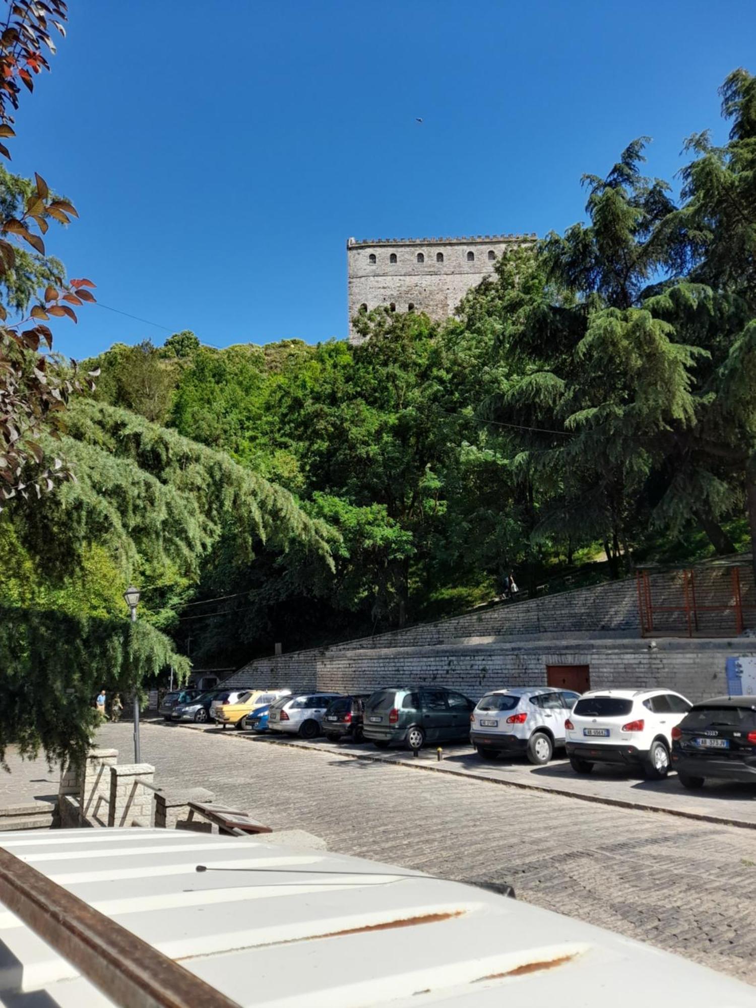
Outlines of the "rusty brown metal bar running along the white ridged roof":
M 239 1008 L 236 1001 L 3 848 L 0 903 L 121 1008 Z

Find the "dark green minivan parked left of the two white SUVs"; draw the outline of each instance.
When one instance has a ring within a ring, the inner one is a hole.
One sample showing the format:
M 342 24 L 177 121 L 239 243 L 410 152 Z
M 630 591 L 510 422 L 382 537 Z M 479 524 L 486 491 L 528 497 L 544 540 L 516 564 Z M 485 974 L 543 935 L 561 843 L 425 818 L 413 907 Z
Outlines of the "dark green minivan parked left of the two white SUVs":
M 472 700 L 445 686 L 385 686 L 365 702 L 363 733 L 379 749 L 392 742 L 421 749 L 425 742 L 467 742 Z

